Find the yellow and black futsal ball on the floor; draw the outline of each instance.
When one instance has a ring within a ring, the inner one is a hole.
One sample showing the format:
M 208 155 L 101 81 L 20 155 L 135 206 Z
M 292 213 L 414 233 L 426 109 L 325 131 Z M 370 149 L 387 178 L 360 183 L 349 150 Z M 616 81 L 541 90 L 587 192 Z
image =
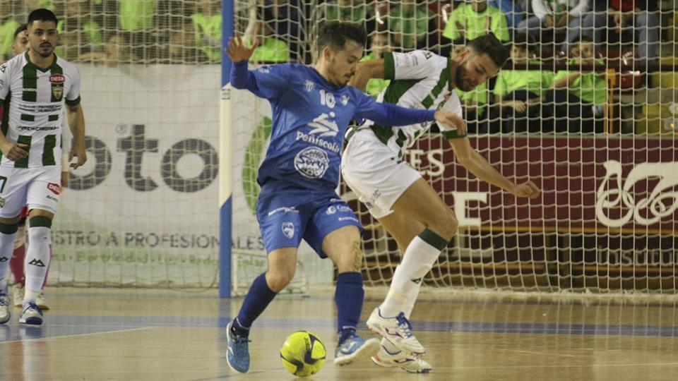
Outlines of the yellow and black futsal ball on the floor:
M 325 365 L 325 345 L 311 331 L 297 331 L 280 347 L 280 361 L 287 372 L 299 377 L 314 375 Z

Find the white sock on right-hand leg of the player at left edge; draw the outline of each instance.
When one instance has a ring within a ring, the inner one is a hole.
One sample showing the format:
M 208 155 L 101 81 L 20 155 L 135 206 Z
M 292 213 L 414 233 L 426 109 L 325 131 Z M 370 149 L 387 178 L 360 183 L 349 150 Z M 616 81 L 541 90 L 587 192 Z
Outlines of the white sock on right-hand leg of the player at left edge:
M 26 253 L 26 291 L 23 303 L 33 302 L 42 289 L 42 282 L 49 267 L 49 245 L 52 238 L 45 226 L 28 228 L 28 252 Z

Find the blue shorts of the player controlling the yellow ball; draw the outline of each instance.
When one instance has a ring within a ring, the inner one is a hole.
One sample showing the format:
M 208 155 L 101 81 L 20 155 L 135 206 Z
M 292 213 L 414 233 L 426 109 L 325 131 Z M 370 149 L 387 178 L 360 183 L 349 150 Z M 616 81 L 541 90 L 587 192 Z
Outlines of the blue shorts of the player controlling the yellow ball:
M 256 206 L 266 253 L 277 248 L 299 247 L 302 238 L 318 253 L 323 239 L 343 226 L 362 224 L 351 208 L 333 191 L 309 191 L 303 188 L 264 186 Z

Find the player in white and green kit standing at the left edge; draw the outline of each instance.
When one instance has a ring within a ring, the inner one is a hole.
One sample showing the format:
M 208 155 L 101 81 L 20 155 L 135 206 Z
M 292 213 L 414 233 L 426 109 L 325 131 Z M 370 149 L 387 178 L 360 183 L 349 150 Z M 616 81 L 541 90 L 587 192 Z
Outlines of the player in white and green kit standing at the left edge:
M 49 266 L 50 228 L 61 193 L 61 126 L 64 106 L 73 133 L 71 167 L 85 163 L 85 117 L 80 105 L 80 73 L 54 54 L 57 17 L 47 9 L 28 16 L 30 49 L 0 66 L 0 323 L 7 322 L 7 267 L 28 205 L 25 296 L 19 322 L 42 324 L 35 304 Z

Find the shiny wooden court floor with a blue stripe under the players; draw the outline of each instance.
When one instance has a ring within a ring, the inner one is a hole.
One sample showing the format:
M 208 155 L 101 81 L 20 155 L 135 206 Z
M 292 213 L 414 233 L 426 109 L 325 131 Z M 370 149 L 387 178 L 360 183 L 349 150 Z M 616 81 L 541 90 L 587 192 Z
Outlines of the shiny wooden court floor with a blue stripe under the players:
M 215 291 L 48 290 L 42 327 L 0 325 L 0 380 L 292 380 L 278 348 L 310 329 L 328 348 L 313 380 L 678 380 L 676 303 L 428 295 L 412 322 L 428 375 L 335 367 L 331 294 L 280 296 L 251 332 L 251 371 L 225 360 L 242 299 Z M 367 298 L 363 319 L 381 300 Z M 364 327 L 364 325 L 363 325 Z M 364 336 L 369 332 L 363 331 Z

